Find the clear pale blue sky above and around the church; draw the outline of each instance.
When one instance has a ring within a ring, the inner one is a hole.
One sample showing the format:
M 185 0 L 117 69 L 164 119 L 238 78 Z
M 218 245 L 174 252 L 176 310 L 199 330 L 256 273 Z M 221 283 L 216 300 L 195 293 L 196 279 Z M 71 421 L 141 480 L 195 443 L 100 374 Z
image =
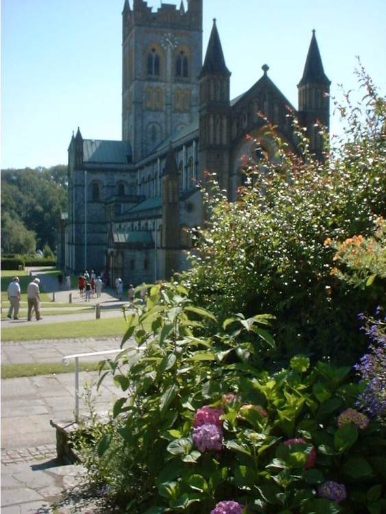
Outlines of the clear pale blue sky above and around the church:
M 121 138 L 123 3 L 1 0 L 1 169 L 67 164 L 77 127 L 84 138 Z M 204 52 L 213 18 L 232 98 L 261 77 L 266 63 L 297 107 L 313 29 L 333 96 L 341 98 L 338 84 L 357 90 L 356 56 L 385 95 L 384 0 L 204 0 Z M 339 119 L 331 121 L 339 132 Z

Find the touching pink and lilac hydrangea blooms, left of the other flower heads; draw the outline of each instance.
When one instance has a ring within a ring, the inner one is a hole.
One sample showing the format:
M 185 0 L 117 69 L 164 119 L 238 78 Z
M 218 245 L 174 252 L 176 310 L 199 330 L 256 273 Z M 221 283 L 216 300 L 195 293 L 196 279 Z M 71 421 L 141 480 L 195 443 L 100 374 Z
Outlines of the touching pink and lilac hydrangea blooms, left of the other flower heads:
M 221 450 L 224 439 L 221 414 L 224 414 L 221 408 L 210 406 L 199 408 L 195 413 L 192 439 L 201 453 Z

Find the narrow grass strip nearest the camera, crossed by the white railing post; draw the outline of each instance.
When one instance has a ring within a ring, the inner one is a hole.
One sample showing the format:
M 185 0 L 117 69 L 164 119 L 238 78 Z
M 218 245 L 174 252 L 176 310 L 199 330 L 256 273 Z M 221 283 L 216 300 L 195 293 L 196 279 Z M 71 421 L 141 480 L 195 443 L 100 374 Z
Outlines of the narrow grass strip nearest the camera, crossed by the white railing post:
M 79 363 L 79 371 L 99 371 L 99 363 Z M 2 364 L 1 378 L 18 378 L 22 376 L 58 375 L 74 373 L 73 363 L 35 363 L 35 364 Z

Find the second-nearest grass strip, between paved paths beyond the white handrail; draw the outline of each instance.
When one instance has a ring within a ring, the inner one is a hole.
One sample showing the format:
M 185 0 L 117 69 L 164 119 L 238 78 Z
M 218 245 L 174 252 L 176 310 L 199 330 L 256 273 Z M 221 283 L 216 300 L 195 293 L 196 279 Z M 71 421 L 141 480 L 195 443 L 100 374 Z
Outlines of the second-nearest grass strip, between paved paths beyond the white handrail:
M 123 317 L 69 321 L 43 325 L 32 321 L 22 326 L 1 329 L 1 341 L 35 341 L 40 339 L 79 339 L 82 337 L 123 337 L 128 325 Z

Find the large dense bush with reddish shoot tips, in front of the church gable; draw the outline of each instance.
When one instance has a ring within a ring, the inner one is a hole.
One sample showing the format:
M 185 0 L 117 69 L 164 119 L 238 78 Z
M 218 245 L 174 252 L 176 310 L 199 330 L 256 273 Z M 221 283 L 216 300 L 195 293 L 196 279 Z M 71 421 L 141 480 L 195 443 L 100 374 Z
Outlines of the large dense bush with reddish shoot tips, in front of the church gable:
M 335 106 L 347 123 L 324 163 L 309 154 L 293 120 L 302 158 L 267 125 L 280 158 L 258 168 L 245 162 L 237 201 L 207 178 L 208 220 L 185 278 L 191 297 L 220 319 L 272 313 L 278 348 L 287 357 L 304 353 L 313 361 L 328 356 L 354 364 L 367 345 L 357 314 L 374 312 L 383 299 L 384 289 L 369 295 L 331 274 L 335 252 L 324 245 L 328 238 L 370 236 L 386 212 L 385 99 L 363 70 L 359 85 L 361 104 L 351 106 L 347 95 L 347 105 Z

